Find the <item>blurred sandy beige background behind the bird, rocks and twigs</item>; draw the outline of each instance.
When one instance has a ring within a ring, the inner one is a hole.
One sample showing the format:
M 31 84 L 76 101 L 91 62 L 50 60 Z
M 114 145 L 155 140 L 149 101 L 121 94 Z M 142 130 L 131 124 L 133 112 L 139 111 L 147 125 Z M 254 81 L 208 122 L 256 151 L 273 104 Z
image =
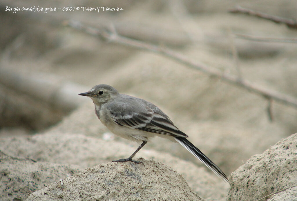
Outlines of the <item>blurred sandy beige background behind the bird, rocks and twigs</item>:
M 63 25 L 64 20 L 77 20 L 113 27 L 123 36 L 173 49 L 189 60 L 225 73 L 236 75 L 238 66 L 244 79 L 297 97 L 296 43 L 256 42 L 234 36 L 234 33 L 240 33 L 296 38 L 297 30 L 228 12 L 240 5 L 296 19 L 295 1 L 3 0 L 0 4 L 2 139 L 57 131 L 113 138 L 97 119 L 91 100 L 76 96 L 100 83 L 158 105 L 189 140 L 227 174 L 252 155 L 262 153 L 297 131 L 297 109 L 294 107 L 273 102 L 271 121 L 268 102 L 259 95 L 160 54 L 102 41 Z M 99 13 L 59 10 L 46 14 L 18 11 L 14 14 L 3 9 L 5 6 L 34 5 L 105 6 L 122 7 L 123 10 Z M 237 58 L 232 54 L 234 49 Z M 65 87 L 69 90 L 58 93 L 61 85 L 70 86 L 71 90 Z M 138 146 L 117 137 L 114 140 L 131 144 L 135 149 Z M 12 149 L 9 144 L 2 144 L 1 148 L 4 147 Z M 144 149 L 171 153 L 201 165 L 187 150 L 165 139 L 154 139 Z M 5 149 L 1 151 L 12 154 Z M 142 151 L 138 157 L 142 157 Z

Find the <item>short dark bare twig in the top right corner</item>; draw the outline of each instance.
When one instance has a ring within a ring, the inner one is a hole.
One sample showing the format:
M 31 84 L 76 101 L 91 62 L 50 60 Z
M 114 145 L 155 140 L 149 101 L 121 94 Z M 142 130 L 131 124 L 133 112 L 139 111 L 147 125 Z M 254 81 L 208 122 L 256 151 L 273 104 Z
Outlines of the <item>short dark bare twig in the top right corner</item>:
M 257 16 L 266 20 L 270 20 L 275 23 L 282 23 L 287 25 L 289 28 L 297 29 L 296 19 L 288 19 L 285 17 L 278 17 L 274 15 L 268 15 L 263 12 L 254 11 L 252 9 L 247 9 L 241 6 L 237 6 L 235 9 L 230 10 L 231 13 L 244 13 L 247 15 Z

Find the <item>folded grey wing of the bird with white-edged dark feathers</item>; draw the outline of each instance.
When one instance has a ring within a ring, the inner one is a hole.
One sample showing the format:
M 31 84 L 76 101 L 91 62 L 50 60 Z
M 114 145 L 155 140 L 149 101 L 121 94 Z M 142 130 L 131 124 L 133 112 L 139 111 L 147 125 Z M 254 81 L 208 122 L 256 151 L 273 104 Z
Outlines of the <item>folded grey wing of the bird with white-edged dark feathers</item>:
M 109 105 L 108 110 L 113 121 L 120 126 L 157 134 L 187 137 L 157 106 L 142 99 L 126 97 L 121 102 Z

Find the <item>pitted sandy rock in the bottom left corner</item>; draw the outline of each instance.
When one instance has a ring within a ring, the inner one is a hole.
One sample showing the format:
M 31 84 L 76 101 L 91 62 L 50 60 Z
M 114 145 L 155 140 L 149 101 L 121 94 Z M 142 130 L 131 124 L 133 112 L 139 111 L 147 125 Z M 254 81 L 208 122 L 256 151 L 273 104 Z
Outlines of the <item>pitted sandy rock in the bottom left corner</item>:
M 77 165 L 60 165 L 11 157 L 0 151 L 0 200 L 25 200 L 44 186 L 72 176 Z

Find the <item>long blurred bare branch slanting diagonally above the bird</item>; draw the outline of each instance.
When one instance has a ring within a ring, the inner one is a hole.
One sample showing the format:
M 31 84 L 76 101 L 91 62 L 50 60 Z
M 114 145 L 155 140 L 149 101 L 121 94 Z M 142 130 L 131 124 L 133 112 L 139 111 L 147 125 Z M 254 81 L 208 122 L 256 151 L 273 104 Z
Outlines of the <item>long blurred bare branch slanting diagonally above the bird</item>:
M 78 21 L 66 21 L 65 24 L 72 28 L 81 30 L 85 33 L 91 34 L 93 36 L 108 40 L 110 42 L 124 44 L 127 46 L 132 46 L 134 48 L 139 48 L 139 49 L 162 54 L 162 55 L 169 57 L 170 59 L 175 60 L 181 64 L 184 64 L 188 67 L 202 71 L 208 75 L 219 78 L 219 79 L 221 79 L 225 82 L 228 82 L 230 84 L 233 84 L 235 86 L 239 86 L 244 89 L 247 89 L 248 91 L 258 94 L 260 96 L 263 96 L 264 98 L 266 98 L 268 100 L 273 99 L 273 100 L 280 102 L 282 104 L 297 107 L 297 99 L 294 97 L 262 88 L 258 85 L 250 83 L 247 80 L 238 79 L 238 76 L 224 74 L 216 68 L 206 66 L 206 65 L 200 64 L 198 62 L 190 61 L 185 56 L 183 56 L 177 52 L 174 52 L 173 50 L 170 50 L 167 48 L 162 48 L 162 47 L 152 45 L 149 43 L 145 43 L 142 41 L 137 41 L 137 40 L 134 40 L 131 38 L 126 38 L 126 37 L 117 35 L 116 33 L 111 33 L 110 30 L 107 30 L 106 28 L 89 27 L 88 25 L 80 23 Z

